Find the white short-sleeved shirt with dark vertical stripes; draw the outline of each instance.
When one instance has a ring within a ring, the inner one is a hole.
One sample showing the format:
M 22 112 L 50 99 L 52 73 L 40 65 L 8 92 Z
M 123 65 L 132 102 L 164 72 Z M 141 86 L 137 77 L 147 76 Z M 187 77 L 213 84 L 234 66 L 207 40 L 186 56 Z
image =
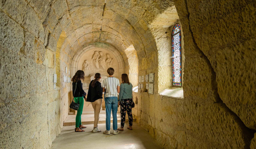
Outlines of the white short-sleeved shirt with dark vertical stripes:
M 105 87 L 105 97 L 118 97 L 117 86 L 120 86 L 120 82 L 115 77 L 108 77 L 103 80 L 102 87 Z

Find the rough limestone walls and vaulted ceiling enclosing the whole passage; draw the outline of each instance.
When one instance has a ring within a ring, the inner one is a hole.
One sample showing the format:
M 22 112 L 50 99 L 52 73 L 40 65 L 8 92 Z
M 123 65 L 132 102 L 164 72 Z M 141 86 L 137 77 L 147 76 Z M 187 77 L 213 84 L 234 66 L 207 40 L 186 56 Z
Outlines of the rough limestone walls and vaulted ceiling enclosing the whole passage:
M 65 67 L 82 47 L 108 43 L 134 83 L 155 73 L 154 94 L 134 93 L 133 114 L 161 146 L 255 148 L 255 8 L 245 0 L 2 1 L 0 146 L 49 148 L 68 114 Z M 159 95 L 171 87 L 176 22 L 185 57 L 179 99 Z

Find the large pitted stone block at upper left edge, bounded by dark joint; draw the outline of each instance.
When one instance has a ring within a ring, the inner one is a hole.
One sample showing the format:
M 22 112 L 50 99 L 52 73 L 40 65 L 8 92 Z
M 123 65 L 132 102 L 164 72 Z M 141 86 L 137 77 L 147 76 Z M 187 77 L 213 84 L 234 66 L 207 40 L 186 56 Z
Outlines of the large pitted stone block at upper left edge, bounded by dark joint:
M 0 18 L 0 45 L 17 53 L 24 41 L 23 29 L 2 11 L 0 11 Z

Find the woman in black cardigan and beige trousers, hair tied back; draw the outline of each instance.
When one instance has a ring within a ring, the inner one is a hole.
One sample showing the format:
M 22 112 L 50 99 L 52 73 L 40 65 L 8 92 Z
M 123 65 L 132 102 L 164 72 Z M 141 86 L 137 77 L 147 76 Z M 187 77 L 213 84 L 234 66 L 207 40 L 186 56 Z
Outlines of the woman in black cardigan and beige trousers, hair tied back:
M 93 133 L 96 132 L 101 132 L 101 130 L 98 129 L 98 122 L 100 118 L 100 108 L 102 104 L 102 92 L 103 89 L 101 87 L 100 78 L 101 75 L 100 73 L 96 73 L 94 75 L 94 80 L 91 81 L 89 84 L 89 90 L 88 90 L 88 95 L 87 95 L 87 102 L 92 103 L 92 107 L 94 110 L 94 126 L 93 126 Z

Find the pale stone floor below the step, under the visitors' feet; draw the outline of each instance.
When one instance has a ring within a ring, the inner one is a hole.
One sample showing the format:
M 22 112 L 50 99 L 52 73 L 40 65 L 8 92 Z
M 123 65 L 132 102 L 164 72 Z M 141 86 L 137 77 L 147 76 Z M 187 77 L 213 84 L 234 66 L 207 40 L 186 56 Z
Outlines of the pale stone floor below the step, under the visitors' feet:
M 155 139 L 143 130 L 136 122 L 133 122 L 133 130 L 127 129 L 129 123 L 124 125 L 124 131 L 118 135 L 102 132 L 92 133 L 93 125 L 86 125 L 85 132 L 75 132 L 75 126 L 64 126 L 60 135 L 52 142 L 52 149 L 160 149 Z M 99 124 L 101 131 L 106 130 L 106 124 Z M 118 123 L 120 127 L 120 123 Z

